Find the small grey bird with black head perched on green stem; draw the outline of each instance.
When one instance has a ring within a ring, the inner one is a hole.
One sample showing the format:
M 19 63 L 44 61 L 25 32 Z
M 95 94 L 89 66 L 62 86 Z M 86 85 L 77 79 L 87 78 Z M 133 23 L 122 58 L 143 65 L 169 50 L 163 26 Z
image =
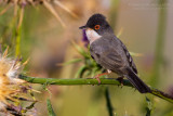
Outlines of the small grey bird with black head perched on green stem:
M 124 43 L 117 38 L 106 17 L 96 13 L 89 17 L 84 29 L 90 42 L 90 54 L 107 73 L 95 78 L 101 83 L 99 76 L 116 73 L 119 79 L 127 77 L 141 92 L 150 93 L 151 89 L 137 76 L 137 68 Z

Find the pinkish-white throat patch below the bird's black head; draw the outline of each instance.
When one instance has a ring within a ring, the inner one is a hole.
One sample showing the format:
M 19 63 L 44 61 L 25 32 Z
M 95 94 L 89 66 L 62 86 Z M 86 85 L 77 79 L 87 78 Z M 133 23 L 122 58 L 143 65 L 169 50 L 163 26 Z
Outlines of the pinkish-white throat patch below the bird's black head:
M 90 41 L 90 44 L 95 41 L 96 39 L 99 39 L 102 36 L 98 35 L 95 30 L 91 29 L 91 28 L 88 28 L 85 30 L 85 34 L 86 34 L 86 37 Z

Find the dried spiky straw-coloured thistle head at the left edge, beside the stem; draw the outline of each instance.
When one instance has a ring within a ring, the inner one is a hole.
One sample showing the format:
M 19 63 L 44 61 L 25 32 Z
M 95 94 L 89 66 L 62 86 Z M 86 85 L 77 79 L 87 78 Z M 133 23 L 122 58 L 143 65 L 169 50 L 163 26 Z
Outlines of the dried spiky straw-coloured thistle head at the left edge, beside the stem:
M 0 54 L 0 114 L 22 115 L 27 112 L 21 106 L 21 102 L 29 101 L 27 93 L 32 89 L 18 78 L 26 63 L 21 63 L 19 59 L 8 57 L 8 49 Z

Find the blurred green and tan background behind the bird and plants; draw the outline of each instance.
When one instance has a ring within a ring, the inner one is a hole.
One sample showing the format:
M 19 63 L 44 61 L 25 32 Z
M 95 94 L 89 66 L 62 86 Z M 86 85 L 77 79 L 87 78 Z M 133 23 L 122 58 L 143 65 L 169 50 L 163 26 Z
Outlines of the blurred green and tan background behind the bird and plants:
M 141 53 L 133 56 L 141 78 L 151 87 L 173 95 L 173 1 L 172 0 L 61 0 L 74 17 L 59 7 L 54 7 L 66 27 L 42 4 L 26 5 L 19 29 L 19 55 L 26 61 L 25 75 L 43 78 L 74 78 L 82 63 L 59 66 L 57 64 L 81 57 L 71 46 L 71 40 L 82 46 L 84 25 L 94 13 L 106 15 L 107 21 L 129 51 Z M 0 4 L 0 12 L 6 4 Z M 17 16 L 11 7 L 0 15 L 0 43 L 10 55 L 16 54 Z M 115 77 L 115 75 L 110 75 Z M 88 77 L 84 77 L 88 78 Z M 46 116 L 46 98 L 51 98 L 57 116 L 108 116 L 105 86 L 42 86 L 34 85 L 38 116 Z M 132 88 L 108 86 L 115 116 L 145 116 L 146 95 Z M 173 105 L 159 98 L 148 95 L 152 103 L 152 116 L 173 116 Z

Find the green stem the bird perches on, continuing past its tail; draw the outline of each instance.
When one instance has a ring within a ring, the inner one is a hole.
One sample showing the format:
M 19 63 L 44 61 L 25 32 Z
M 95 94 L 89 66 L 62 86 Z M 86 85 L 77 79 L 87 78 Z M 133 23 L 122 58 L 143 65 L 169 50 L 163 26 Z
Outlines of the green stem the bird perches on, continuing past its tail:
M 79 85 L 98 85 L 98 81 L 93 78 L 76 78 L 76 79 L 55 79 L 55 78 L 36 78 L 36 77 L 27 77 L 21 75 L 18 78 L 24 79 L 31 83 L 41 83 L 41 85 L 59 85 L 59 86 L 79 86 Z M 131 82 L 127 79 L 123 79 L 123 86 L 133 87 Z M 121 83 L 115 78 L 101 78 L 99 85 L 114 85 L 120 86 Z M 134 88 L 134 87 L 133 87 Z M 159 96 L 165 101 L 173 103 L 173 96 L 158 90 L 155 88 L 150 88 L 151 93 L 156 96 Z

